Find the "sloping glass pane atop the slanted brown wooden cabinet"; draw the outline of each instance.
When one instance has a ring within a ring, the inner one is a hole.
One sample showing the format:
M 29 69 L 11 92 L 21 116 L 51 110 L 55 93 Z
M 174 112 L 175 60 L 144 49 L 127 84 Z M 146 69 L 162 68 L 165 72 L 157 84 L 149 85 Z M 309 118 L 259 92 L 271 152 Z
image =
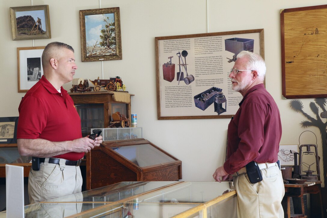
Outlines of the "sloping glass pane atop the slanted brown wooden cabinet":
M 173 158 L 162 153 L 150 144 L 112 147 L 111 149 L 139 167 L 147 167 L 175 161 Z

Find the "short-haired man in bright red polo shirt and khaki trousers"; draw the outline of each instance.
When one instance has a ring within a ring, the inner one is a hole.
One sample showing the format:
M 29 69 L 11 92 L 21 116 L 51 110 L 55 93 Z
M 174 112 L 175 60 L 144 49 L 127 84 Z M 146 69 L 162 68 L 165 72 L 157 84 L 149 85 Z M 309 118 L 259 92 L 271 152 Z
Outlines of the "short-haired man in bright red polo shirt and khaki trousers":
M 102 136 L 95 140 L 82 137 L 74 102 L 62 88 L 73 80 L 77 69 L 74 49 L 49 43 L 42 65 L 41 80 L 28 90 L 18 108 L 19 153 L 40 158 L 40 169 L 31 169 L 28 178 L 31 204 L 80 192 L 80 159 L 102 143 Z

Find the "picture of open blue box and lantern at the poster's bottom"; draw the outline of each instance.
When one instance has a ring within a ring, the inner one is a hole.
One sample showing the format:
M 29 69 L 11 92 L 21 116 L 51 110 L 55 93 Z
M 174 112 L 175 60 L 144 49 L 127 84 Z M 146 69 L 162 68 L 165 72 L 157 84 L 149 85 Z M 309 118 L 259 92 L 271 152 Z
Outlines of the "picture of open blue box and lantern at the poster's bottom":
M 197 108 L 200 108 L 203 111 L 205 109 L 207 109 L 214 102 L 215 102 L 215 104 L 214 104 L 215 112 L 217 112 L 218 115 L 226 112 L 227 101 L 226 101 L 225 96 L 222 93 L 222 89 L 212 87 L 212 88 L 194 96 L 195 106 Z M 223 105 L 224 103 L 225 103 L 225 105 Z

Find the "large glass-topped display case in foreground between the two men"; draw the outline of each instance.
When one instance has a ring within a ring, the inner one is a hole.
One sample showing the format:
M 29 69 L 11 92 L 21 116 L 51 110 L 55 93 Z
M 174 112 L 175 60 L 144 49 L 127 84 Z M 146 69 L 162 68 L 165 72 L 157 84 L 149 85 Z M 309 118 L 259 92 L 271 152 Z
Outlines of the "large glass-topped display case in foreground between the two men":
M 25 217 L 233 218 L 236 191 L 226 187 L 218 182 L 120 182 L 25 206 Z

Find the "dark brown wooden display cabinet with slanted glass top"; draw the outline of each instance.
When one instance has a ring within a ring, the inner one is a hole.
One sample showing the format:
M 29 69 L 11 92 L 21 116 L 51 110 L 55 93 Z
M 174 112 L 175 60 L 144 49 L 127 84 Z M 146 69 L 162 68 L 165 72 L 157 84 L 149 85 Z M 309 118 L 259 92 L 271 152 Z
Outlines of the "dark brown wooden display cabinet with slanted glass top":
M 181 160 L 144 138 L 105 141 L 86 155 L 86 190 L 122 181 L 181 178 Z

